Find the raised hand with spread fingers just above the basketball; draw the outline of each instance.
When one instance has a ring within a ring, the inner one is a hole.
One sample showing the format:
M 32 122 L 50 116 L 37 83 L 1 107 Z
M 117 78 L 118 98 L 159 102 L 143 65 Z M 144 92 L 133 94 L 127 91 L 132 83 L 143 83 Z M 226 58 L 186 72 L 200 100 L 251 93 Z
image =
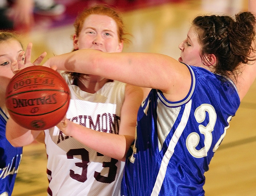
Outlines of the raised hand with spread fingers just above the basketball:
M 31 51 L 32 51 L 32 43 L 28 43 L 26 53 L 25 51 L 20 52 L 18 55 L 17 61 L 11 64 L 11 70 L 14 74 L 18 73 L 20 70 L 25 67 L 39 65 L 44 57 L 46 56 L 46 52 L 43 52 L 33 63 L 31 63 Z

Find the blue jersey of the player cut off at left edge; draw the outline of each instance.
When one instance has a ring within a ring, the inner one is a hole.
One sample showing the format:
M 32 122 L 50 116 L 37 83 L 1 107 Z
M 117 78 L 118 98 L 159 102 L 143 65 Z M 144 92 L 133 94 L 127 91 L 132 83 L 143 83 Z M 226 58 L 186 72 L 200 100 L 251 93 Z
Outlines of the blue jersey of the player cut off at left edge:
M 0 195 L 11 195 L 20 166 L 22 147 L 13 147 L 5 137 L 8 117 L 0 108 Z M 7 193 L 7 194 L 6 194 Z

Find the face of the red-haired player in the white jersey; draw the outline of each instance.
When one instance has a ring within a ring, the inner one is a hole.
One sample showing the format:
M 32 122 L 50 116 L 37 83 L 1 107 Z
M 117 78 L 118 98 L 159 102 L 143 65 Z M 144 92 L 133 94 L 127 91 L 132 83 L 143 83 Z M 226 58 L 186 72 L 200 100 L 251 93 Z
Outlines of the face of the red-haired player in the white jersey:
M 84 21 L 79 37 L 74 35 L 74 49 L 96 49 L 103 52 L 122 52 L 117 25 L 106 15 L 92 14 Z

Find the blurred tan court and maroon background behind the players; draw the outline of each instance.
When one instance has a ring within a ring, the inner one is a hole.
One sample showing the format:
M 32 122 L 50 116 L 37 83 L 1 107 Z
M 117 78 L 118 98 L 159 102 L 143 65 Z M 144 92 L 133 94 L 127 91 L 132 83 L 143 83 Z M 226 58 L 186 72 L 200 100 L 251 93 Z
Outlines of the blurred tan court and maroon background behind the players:
M 26 3 L 25 0 L 22 1 Z M 37 3 L 36 3 L 37 2 Z M 38 3 L 39 2 L 39 3 Z M 108 4 L 121 12 L 132 42 L 124 52 L 156 52 L 178 59 L 178 45 L 188 32 L 190 22 L 199 14 L 225 13 L 234 15 L 247 10 L 247 0 L 45 0 L 30 8 L 26 25 L 12 21 L 15 7 L 3 4 L 1 17 L 10 21 L 2 27 L 20 32 L 24 49 L 33 43 L 32 61 L 42 52 L 47 57 L 70 52 L 73 22 L 84 8 Z M 47 3 L 48 2 L 48 3 Z M 1 6 L 1 1 L 0 1 Z M 1 8 L 1 7 L 0 7 Z M 10 18 L 11 17 L 11 18 Z M 0 18 L 1 21 L 7 21 Z M 135 73 L 136 74 L 136 73 Z M 206 196 L 255 195 L 256 193 L 256 83 L 241 102 L 232 118 L 219 149 L 205 173 Z M 13 196 L 47 195 L 46 153 L 44 144 L 24 147 L 23 157 L 14 186 Z

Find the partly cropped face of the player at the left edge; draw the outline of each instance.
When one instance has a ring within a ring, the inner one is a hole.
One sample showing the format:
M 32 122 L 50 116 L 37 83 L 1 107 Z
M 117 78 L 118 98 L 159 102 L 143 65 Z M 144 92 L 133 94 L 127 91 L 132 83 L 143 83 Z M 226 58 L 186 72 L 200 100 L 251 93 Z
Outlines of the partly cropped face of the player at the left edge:
M 20 52 L 23 51 L 17 40 L 8 40 L 0 43 L 0 76 L 12 78 L 14 75 L 11 64 L 17 61 Z

